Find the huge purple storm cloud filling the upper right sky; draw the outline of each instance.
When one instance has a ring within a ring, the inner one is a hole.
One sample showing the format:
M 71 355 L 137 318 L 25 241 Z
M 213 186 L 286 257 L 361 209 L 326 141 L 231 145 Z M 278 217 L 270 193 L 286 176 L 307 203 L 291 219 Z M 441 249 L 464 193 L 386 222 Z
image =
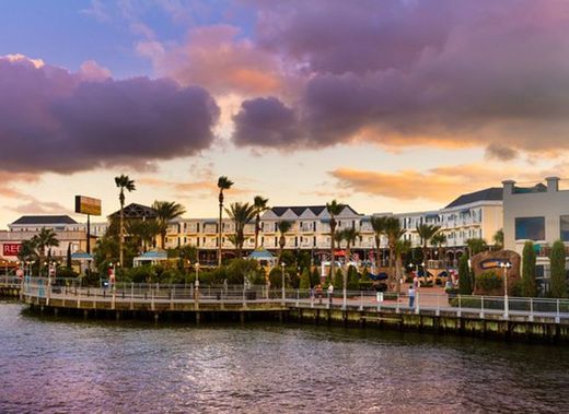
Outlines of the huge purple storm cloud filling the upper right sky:
M 502 157 L 569 149 L 569 2 L 315 0 L 258 8 L 257 47 L 279 54 L 304 87 L 293 100 L 279 96 L 281 109 L 297 114 L 294 126 L 266 122 L 243 105 L 234 117 L 237 144 L 367 141 L 490 153 L 499 145 Z

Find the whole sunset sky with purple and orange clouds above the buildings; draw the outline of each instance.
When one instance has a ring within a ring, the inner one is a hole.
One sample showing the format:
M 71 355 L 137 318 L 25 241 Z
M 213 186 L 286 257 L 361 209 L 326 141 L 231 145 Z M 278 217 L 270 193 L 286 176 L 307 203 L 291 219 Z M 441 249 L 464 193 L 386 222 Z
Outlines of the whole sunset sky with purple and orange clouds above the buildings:
M 219 176 L 368 214 L 569 177 L 567 27 L 565 0 L 3 0 L 0 228 L 107 215 L 120 174 L 188 217 Z

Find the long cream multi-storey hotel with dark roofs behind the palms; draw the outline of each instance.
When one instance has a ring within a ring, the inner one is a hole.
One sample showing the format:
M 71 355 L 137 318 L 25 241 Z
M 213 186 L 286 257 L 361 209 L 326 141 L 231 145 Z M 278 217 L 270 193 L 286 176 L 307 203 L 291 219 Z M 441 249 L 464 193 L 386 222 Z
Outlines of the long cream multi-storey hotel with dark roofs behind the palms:
M 361 234 L 351 251 L 357 260 L 374 261 L 375 237 L 371 226 L 372 216 L 391 215 L 399 218 L 402 227 L 406 229 L 405 239 L 411 241 L 414 247 L 420 247 L 420 238 L 416 227 L 421 224 L 433 224 L 441 226 L 441 232 L 446 236 L 446 259 L 451 264 L 466 251 L 466 240 L 469 238 L 484 238 L 492 244 L 495 234 L 502 228 L 502 189 L 488 188 L 485 190 L 463 194 L 452 201 L 443 209 L 416 213 L 376 213 L 363 215 L 346 205 L 344 211 L 336 217 L 337 229 L 353 227 Z M 315 260 L 329 260 L 330 234 L 329 214 L 326 205 L 289 205 L 275 206 L 266 211 L 260 220 L 259 246 L 275 252 L 279 249 L 280 234 L 278 232 L 279 221 L 293 223 L 291 229 L 286 234 L 286 249 L 310 251 Z M 200 262 L 214 263 L 218 255 L 217 218 L 183 218 L 173 222 L 169 226 L 166 236 L 166 248 L 184 245 L 196 246 L 200 251 Z M 225 256 L 232 256 L 234 246 L 230 237 L 234 233 L 234 224 L 229 218 L 222 222 L 222 250 Z M 245 226 L 244 250 L 251 251 L 255 247 L 255 223 Z M 339 246 L 338 256 L 342 256 Z M 381 238 L 380 261 L 386 265 L 387 240 Z

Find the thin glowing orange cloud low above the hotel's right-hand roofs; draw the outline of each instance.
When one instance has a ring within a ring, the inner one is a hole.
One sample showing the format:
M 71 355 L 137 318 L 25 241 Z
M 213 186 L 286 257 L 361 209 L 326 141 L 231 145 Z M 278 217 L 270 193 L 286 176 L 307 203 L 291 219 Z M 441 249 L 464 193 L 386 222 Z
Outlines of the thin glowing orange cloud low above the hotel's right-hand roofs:
M 414 169 L 395 173 L 338 168 L 329 173 L 340 189 L 402 201 L 430 200 L 449 202 L 471 191 L 487 187 L 501 187 L 504 178 L 529 179 L 530 175 L 519 167 L 484 167 L 463 164 L 432 168 L 427 173 Z M 476 179 L 473 179 L 476 177 Z

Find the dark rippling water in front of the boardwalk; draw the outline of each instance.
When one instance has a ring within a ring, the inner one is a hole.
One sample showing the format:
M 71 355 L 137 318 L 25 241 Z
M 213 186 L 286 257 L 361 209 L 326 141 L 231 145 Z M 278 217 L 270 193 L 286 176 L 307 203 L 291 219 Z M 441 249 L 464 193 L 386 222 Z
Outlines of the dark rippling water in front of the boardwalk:
M 569 350 L 272 323 L 37 318 L 0 303 L 0 412 L 569 412 Z

